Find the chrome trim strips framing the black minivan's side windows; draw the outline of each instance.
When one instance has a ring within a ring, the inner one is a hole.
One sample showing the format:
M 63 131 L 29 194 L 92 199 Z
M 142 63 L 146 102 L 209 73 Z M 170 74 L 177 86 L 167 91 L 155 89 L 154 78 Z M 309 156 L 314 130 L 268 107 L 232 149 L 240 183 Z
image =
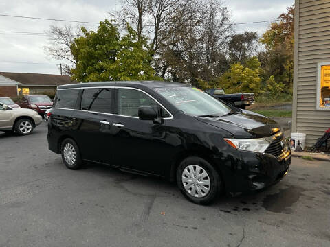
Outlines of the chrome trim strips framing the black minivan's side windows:
M 142 93 L 145 93 L 146 95 L 151 97 L 151 99 L 153 99 L 155 102 L 157 102 L 157 104 L 159 104 L 159 106 L 162 106 L 162 108 L 164 108 L 166 110 L 166 112 L 170 115 L 170 117 L 159 117 L 159 119 L 173 119 L 174 118 L 172 113 L 170 113 L 170 111 L 167 110 L 165 106 L 163 106 L 157 99 L 155 99 L 153 96 L 146 93 L 146 91 L 144 91 L 142 89 L 133 88 L 131 86 L 85 86 L 85 87 L 72 88 L 72 89 L 133 89 L 133 90 L 141 91 Z M 58 89 L 58 90 L 70 90 L 70 89 Z M 53 107 L 53 108 L 61 109 L 61 110 L 78 110 L 78 111 L 89 112 L 89 113 L 101 113 L 101 114 L 105 114 L 105 115 L 120 116 L 120 117 L 131 117 L 131 118 L 136 118 L 136 119 L 139 118 L 139 117 L 133 117 L 133 116 L 119 115 L 119 114 L 114 114 L 114 113 L 102 113 L 102 112 L 96 112 L 96 111 L 91 111 L 91 110 L 60 108 L 60 107 Z

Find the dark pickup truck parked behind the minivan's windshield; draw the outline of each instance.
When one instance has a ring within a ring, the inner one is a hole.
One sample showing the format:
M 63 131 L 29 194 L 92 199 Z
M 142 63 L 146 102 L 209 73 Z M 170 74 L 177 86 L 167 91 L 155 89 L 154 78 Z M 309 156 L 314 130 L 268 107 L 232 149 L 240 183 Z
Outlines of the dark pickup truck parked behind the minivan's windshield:
M 236 106 L 245 109 L 245 106 L 254 104 L 254 93 L 232 93 L 226 94 L 223 89 L 206 89 L 206 93 L 210 93 L 217 99 L 221 99 L 229 106 Z

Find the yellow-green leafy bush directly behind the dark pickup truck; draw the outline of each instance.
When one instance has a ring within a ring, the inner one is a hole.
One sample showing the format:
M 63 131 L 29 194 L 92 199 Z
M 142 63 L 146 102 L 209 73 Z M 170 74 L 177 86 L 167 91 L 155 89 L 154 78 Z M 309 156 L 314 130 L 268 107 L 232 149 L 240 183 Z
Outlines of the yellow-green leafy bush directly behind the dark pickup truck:
M 252 57 L 245 62 L 232 64 L 218 80 L 226 93 L 261 93 L 260 62 Z

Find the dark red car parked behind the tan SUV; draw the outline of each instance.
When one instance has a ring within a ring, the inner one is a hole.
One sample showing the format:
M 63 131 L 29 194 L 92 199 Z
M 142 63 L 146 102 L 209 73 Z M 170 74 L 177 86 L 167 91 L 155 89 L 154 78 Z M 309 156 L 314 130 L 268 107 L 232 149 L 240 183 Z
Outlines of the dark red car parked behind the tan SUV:
M 24 95 L 20 102 L 21 108 L 36 110 L 39 115 L 44 116 L 45 111 L 53 107 L 53 102 L 47 95 Z

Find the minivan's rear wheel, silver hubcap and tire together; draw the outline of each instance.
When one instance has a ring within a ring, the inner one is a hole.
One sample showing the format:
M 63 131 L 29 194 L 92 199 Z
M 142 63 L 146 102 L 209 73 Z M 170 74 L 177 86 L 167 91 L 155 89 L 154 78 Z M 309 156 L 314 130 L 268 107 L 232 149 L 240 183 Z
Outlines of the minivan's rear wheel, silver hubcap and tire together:
M 78 145 L 71 138 L 67 138 L 61 145 L 62 160 L 69 169 L 80 169 L 83 161 L 80 158 Z

